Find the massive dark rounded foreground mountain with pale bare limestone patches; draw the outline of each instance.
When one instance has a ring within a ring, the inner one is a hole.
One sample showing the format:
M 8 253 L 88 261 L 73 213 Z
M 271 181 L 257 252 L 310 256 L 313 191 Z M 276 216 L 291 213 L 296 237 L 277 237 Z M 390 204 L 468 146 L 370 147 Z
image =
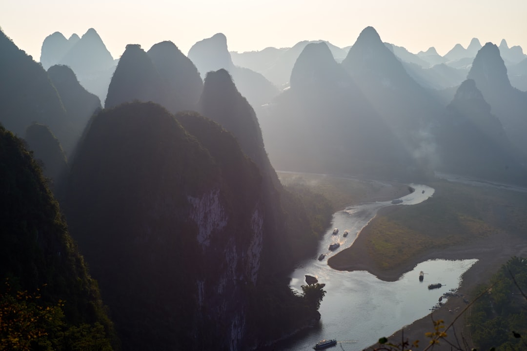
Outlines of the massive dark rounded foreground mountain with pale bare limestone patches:
M 196 113 L 153 103 L 97 115 L 72 165 L 68 216 L 124 349 L 242 349 L 260 274 L 256 165 Z

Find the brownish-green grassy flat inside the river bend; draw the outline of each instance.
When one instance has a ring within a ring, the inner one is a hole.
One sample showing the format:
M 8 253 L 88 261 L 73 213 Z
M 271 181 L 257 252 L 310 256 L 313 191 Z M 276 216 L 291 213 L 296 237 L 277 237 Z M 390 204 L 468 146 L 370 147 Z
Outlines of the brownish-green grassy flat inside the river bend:
M 379 268 L 394 268 L 427 250 L 499 234 L 527 233 L 527 194 L 434 182 L 434 196 L 379 214 L 365 228 L 366 248 Z M 346 251 L 334 257 L 345 264 Z

